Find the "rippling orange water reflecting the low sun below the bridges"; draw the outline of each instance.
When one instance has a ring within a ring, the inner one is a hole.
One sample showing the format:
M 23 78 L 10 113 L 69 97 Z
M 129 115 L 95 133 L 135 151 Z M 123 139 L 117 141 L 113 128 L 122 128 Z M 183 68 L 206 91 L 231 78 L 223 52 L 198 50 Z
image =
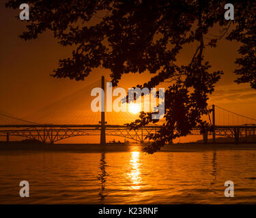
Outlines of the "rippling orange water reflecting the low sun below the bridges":
M 256 151 L 1 151 L 1 204 L 256 203 Z M 20 181 L 30 197 L 20 198 Z M 225 198 L 225 181 L 235 197 Z

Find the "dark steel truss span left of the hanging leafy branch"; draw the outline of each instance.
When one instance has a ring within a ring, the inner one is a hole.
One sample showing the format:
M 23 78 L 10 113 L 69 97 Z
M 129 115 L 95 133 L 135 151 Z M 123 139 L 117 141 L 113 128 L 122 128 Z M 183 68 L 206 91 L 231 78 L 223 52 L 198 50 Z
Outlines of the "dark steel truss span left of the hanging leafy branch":
M 14 125 L 1 126 L 0 136 L 20 136 L 53 144 L 59 140 L 76 136 L 100 136 L 100 125 Z M 145 142 L 147 136 L 156 133 L 160 127 L 148 126 L 136 130 L 124 125 L 105 125 L 106 136 L 119 136 L 137 142 Z

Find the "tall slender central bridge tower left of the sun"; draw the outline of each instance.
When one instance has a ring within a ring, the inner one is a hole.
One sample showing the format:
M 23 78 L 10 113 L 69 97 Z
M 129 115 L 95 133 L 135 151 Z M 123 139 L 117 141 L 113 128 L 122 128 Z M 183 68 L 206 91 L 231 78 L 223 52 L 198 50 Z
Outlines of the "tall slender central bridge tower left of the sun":
M 100 123 L 100 145 L 106 145 L 106 127 L 105 127 L 105 79 L 101 77 L 101 89 L 103 90 L 101 96 L 101 121 Z

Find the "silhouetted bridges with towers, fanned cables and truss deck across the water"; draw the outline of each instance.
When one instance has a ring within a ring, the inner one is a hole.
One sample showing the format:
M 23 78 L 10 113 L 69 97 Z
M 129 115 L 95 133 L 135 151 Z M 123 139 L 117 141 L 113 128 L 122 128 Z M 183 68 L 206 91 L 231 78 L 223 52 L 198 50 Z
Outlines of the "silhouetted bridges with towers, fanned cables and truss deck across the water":
M 54 144 L 59 140 L 76 136 L 100 136 L 100 144 L 104 145 L 106 136 L 118 136 L 145 142 L 149 134 L 154 134 L 161 128 L 161 125 L 147 125 L 139 129 L 129 129 L 123 123 L 129 123 L 138 118 L 138 115 L 131 112 L 91 112 L 88 108 L 90 101 L 86 96 L 91 88 L 98 87 L 97 85 L 104 90 L 104 77 L 102 77 L 101 84 L 91 84 L 82 91 L 72 93 L 25 118 L 18 118 L 0 110 L 0 136 L 6 137 L 7 142 L 12 136 L 40 140 L 46 144 Z M 76 106 L 76 108 L 70 108 L 70 106 Z M 255 138 L 256 141 L 256 119 L 216 105 L 212 105 L 211 108 L 213 131 L 205 131 L 202 134 L 200 129 L 195 128 L 191 131 L 191 135 L 203 135 L 205 143 L 208 142 L 209 136 L 212 136 L 212 142 L 216 142 L 217 137 L 225 137 L 231 138 L 235 143 L 240 143 L 246 142 L 248 136 Z M 35 115 L 40 121 L 29 119 Z

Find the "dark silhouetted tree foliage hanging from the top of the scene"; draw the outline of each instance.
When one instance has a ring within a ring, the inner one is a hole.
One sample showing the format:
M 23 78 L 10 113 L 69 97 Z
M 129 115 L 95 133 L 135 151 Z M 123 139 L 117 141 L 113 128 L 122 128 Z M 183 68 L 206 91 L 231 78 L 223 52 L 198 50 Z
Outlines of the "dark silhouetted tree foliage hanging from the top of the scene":
M 20 0 L 10 0 L 7 7 L 18 8 Z M 240 47 L 235 73 L 236 82 L 250 82 L 256 89 L 256 2 L 220 0 L 27 0 L 30 20 L 24 40 L 36 39 L 53 31 L 63 46 L 76 46 L 72 56 L 59 61 L 53 76 L 84 80 L 91 70 L 104 67 L 111 71 L 114 85 L 123 74 L 150 72 L 152 79 L 137 87 L 156 87 L 169 81 L 165 91 L 165 125 L 150 136 L 155 140 L 147 147 L 154 153 L 166 142 L 186 136 L 197 126 L 205 126 L 201 115 L 208 114 L 208 95 L 223 72 L 210 71 L 210 61 L 203 52 L 218 40 L 236 40 Z M 224 6 L 233 3 L 235 20 L 225 20 Z M 214 25 L 218 35 L 209 31 Z M 191 50 L 187 65 L 180 65 L 178 55 L 187 44 Z M 150 113 L 131 128 L 152 122 Z M 155 122 L 155 121 L 154 121 Z

